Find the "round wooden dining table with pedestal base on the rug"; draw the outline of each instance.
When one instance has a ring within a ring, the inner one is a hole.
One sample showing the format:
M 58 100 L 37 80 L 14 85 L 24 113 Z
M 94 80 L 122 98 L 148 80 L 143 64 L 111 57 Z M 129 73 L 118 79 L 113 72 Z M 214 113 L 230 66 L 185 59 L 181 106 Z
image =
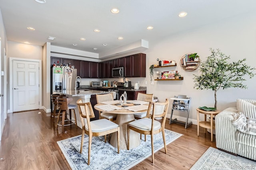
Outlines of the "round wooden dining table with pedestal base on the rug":
M 133 101 L 136 101 L 136 100 L 133 100 Z M 133 101 L 127 101 L 127 103 L 124 104 L 124 105 L 125 106 L 135 106 L 133 103 L 130 103 L 130 102 L 133 102 Z M 118 100 L 116 100 L 116 102 L 119 103 Z M 142 101 L 138 101 L 138 102 L 142 102 Z M 122 107 L 122 105 L 117 106 L 117 107 L 120 107 L 122 109 L 118 109 L 118 110 L 115 109 L 115 110 L 111 110 L 111 111 L 105 111 L 105 110 L 99 109 L 97 107 L 97 106 L 103 106 L 103 105 L 106 105 L 106 104 L 98 103 L 94 106 L 94 108 L 98 111 L 101 111 L 101 112 L 117 114 L 115 123 L 118 124 L 119 127 L 120 127 L 120 149 L 127 149 L 127 145 L 128 145 L 127 126 L 128 126 L 128 123 L 135 120 L 134 119 L 134 113 L 142 113 L 142 112 L 147 111 L 146 107 L 148 107 L 148 104 L 138 105 L 138 107 L 142 108 L 142 110 L 139 110 L 139 111 L 130 111 L 128 109 L 124 109 Z M 111 104 L 111 105 L 116 106 L 115 104 Z M 142 105 L 144 105 L 144 106 L 142 106 Z M 135 131 L 130 130 L 130 149 L 138 147 L 140 145 L 140 141 L 141 141 L 140 140 L 140 133 L 137 133 Z M 110 138 L 110 144 L 113 147 L 117 148 L 117 134 L 116 134 L 116 132 L 112 134 L 112 136 Z

